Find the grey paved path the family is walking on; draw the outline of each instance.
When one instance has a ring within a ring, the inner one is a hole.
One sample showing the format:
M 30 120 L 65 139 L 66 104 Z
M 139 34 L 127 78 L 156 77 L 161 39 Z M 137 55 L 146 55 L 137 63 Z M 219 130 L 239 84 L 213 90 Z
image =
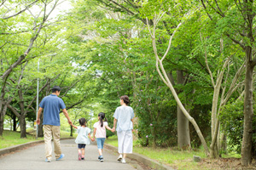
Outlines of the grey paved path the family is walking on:
M 25 150 L 18 150 L 15 153 L 0 156 L 0 170 L 79 170 L 79 169 L 131 169 L 129 163 L 122 164 L 116 161 L 118 154 L 110 150 L 104 150 L 104 161 L 97 160 L 98 152 L 95 144 L 85 148 L 85 160 L 78 160 L 77 144 L 74 139 L 61 140 L 61 150 L 65 157 L 61 161 L 45 162 L 44 144 L 37 144 Z

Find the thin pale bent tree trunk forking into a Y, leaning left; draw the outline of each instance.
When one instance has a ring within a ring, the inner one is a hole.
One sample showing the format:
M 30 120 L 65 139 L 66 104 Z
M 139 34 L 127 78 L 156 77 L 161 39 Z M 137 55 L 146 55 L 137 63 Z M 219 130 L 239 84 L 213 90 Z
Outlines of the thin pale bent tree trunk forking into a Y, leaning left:
M 165 14 L 165 13 L 163 13 L 163 14 Z M 183 111 L 184 116 L 186 116 L 187 119 L 189 119 L 189 122 L 191 122 L 192 125 L 195 127 L 195 131 L 198 134 L 199 138 L 201 139 L 201 144 L 203 144 L 205 153 L 208 156 L 209 155 L 209 150 L 208 150 L 208 147 L 207 147 L 207 142 L 206 142 L 206 140 L 204 139 L 204 137 L 203 137 L 203 135 L 201 133 L 200 127 L 198 127 L 197 123 L 195 122 L 195 119 L 192 116 L 189 115 L 189 112 L 184 108 L 182 102 L 178 98 L 177 93 L 176 93 L 175 89 L 172 86 L 172 82 L 169 80 L 169 78 L 168 78 L 168 76 L 166 74 L 166 70 L 165 70 L 165 68 L 163 66 L 163 63 L 162 63 L 163 60 L 166 58 L 166 55 L 168 54 L 168 52 L 169 52 L 169 50 L 171 48 L 172 37 L 175 35 L 175 32 L 177 31 L 179 26 L 181 26 L 183 24 L 183 22 L 179 23 L 177 28 L 176 28 L 176 30 L 173 31 L 172 36 L 170 37 L 170 40 L 169 40 L 168 48 L 166 49 L 166 54 L 164 54 L 162 59 L 159 58 L 158 53 L 157 53 L 156 42 L 155 42 L 155 28 L 156 28 L 158 22 L 160 21 L 160 19 L 162 18 L 163 14 L 160 14 L 158 17 L 156 17 L 156 15 L 155 15 L 155 17 L 154 17 L 153 33 L 151 32 L 151 30 L 149 28 L 148 18 L 147 18 L 148 31 L 150 32 L 150 35 L 151 35 L 151 38 L 152 38 L 153 48 L 154 48 L 154 56 L 155 56 L 155 59 L 156 59 L 156 65 L 155 65 L 156 66 L 156 70 L 158 71 L 162 81 L 166 83 L 166 86 L 168 88 L 170 88 L 170 90 L 172 92 L 172 95 L 175 98 L 179 108 Z M 159 65 L 160 65 L 160 68 L 159 68 Z

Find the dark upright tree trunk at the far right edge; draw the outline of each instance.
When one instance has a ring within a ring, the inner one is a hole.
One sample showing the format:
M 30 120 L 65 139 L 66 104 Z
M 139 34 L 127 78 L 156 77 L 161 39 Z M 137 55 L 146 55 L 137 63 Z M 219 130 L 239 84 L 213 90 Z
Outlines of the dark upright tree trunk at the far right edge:
M 248 166 L 252 163 L 252 144 L 253 144 L 253 66 L 252 48 L 246 50 L 246 78 L 245 78 L 245 97 L 244 97 L 244 123 L 241 144 L 241 165 Z

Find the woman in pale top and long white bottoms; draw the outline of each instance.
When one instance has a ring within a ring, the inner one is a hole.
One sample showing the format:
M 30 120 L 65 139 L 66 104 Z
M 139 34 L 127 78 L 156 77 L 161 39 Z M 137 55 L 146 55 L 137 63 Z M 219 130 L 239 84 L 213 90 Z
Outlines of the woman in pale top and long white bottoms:
M 113 114 L 113 131 L 117 131 L 119 142 L 118 161 L 125 163 L 126 154 L 132 153 L 132 129 L 133 129 L 133 109 L 128 106 L 129 98 L 124 95 L 120 97 L 120 105 Z

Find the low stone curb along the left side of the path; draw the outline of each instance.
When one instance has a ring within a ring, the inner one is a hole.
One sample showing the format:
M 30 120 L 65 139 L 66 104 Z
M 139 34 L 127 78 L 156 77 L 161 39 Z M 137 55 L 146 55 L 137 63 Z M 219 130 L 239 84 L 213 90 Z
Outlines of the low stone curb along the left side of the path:
M 65 140 L 65 139 L 73 139 L 73 138 L 63 138 L 61 140 Z M 8 148 L 3 148 L 3 149 L 0 149 L 0 156 L 3 156 L 4 154 L 9 154 L 10 152 L 14 152 L 16 150 L 22 150 L 33 144 L 40 144 L 40 143 L 44 143 L 44 140 L 37 140 L 37 141 L 28 142 L 26 144 L 18 144 L 18 145 L 10 146 Z

